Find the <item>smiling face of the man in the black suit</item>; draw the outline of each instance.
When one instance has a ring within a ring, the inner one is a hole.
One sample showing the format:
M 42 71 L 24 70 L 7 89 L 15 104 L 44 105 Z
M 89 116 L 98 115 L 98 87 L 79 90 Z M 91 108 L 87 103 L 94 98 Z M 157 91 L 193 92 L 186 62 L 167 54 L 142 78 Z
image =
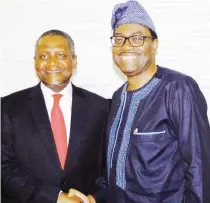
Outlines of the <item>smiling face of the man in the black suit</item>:
M 36 47 L 35 70 L 39 79 L 52 91 L 60 92 L 69 83 L 77 66 L 68 41 L 62 36 L 44 36 Z

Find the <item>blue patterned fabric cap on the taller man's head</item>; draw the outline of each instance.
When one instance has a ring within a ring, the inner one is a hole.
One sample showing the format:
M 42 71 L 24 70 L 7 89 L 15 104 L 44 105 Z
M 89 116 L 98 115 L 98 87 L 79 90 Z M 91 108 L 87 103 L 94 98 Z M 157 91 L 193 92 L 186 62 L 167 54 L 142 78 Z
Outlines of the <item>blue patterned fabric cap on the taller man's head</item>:
M 130 0 L 114 7 L 111 19 L 112 29 L 115 30 L 118 26 L 128 23 L 143 25 L 156 33 L 152 19 L 138 1 Z

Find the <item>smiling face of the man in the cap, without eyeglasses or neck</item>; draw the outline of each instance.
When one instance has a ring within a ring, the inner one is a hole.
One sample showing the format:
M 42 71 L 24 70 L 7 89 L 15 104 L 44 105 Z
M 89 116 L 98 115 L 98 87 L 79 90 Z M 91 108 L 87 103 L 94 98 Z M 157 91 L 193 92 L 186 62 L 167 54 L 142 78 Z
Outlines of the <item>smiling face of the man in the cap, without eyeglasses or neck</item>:
M 114 36 L 147 36 L 151 37 L 148 28 L 140 24 L 124 24 L 120 25 L 114 31 Z M 136 76 L 146 71 L 153 60 L 157 42 L 151 38 L 145 38 L 142 46 L 134 47 L 128 40 L 122 47 L 113 47 L 112 54 L 115 64 L 128 77 Z

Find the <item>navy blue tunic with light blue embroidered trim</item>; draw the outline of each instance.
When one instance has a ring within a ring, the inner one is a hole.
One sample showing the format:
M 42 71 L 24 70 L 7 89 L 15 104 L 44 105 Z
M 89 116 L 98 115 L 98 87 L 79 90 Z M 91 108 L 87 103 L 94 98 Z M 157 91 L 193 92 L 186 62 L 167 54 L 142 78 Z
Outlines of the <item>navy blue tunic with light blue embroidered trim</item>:
M 199 86 L 158 66 L 141 89 L 123 87 L 108 121 L 107 203 L 210 203 L 210 126 Z

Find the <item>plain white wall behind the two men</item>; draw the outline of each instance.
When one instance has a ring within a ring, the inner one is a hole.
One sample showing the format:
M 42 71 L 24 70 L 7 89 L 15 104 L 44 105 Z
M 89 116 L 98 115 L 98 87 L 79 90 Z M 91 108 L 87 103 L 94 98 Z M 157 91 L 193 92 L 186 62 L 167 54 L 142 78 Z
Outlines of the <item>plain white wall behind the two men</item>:
M 0 96 L 35 85 L 34 45 L 49 29 L 75 41 L 73 82 L 111 97 L 123 77 L 111 56 L 110 18 L 118 0 L 0 0 Z M 124 1 L 122 1 L 124 2 Z M 159 35 L 157 63 L 192 76 L 210 106 L 210 1 L 141 0 Z M 210 117 L 210 112 L 208 112 Z

